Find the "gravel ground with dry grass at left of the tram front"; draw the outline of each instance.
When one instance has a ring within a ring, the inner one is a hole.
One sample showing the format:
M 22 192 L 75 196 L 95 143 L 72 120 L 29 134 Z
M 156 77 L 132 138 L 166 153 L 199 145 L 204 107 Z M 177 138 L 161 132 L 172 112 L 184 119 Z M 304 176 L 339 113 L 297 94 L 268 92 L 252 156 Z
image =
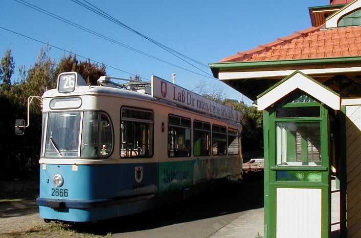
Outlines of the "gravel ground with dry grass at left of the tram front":
M 86 232 L 77 232 L 70 225 L 45 223 L 39 217 L 35 203 L 38 191 L 37 178 L 0 181 L 0 238 L 96 237 Z

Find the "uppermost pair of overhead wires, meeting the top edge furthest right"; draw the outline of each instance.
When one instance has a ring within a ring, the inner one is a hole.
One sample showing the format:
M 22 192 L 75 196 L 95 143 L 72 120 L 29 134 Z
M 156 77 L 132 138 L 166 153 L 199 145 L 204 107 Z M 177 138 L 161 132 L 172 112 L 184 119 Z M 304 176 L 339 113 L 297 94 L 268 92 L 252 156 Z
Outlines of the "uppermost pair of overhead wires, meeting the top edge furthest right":
M 175 56 L 176 58 L 178 58 L 178 59 L 186 62 L 187 64 L 193 66 L 194 68 L 196 68 L 196 69 L 198 69 L 198 70 L 200 70 L 200 71 L 202 71 L 202 72 L 204 72 L 204 73 L 206 73 L 207 75 L 209 75 L 209 76 L 212 77 L 212 75 L 211 75 L 210 73 L 208 73 L 208 72 L 200 69 L 199 67 L 197 67 L 197 66 L 195 66 L 194 64 L 188 62 L 187 60 L 183 59 L 182 57 L 179 57 L 178 54 L 181 54 L 181 53 L 179 53 L 179 52 L 177 52 L 177 51 L 169 48 L 168 46 L 165 46 L 165 45 L 163 45 L 162 43 L 157 42 L 157 41 L 155 41 L 155 40 L 147 37 L 146 35 L 138 32 L 138 31 L 136 31 L 136 30 L 134 30 L 134 29 L 132 29 L 132 28 L 130 28 L 130 27 L 128 27 L 128 25 L 126 25 L 126 24 L 124 24 L 123 22 L 119 21 L 118 19 L 112 17 L 111 15 L 107 14 L 106 12 L 102 11 L 101 9 L 99 9 L 99 8 L 97 8 L 96 6 L 92 5 L 91 3 L 83 0 L 83 1 L 86 2 L 87 4 L 91 5 L 93 8 L 92 8 L 92 7 L 89 7 L 88 5 L 86 5 L 86 4 L 84 4 L 84 3 L 81 3 L 81 2 L 78 1 L 78 0 L 71 0 L 71 1 L 74 2 L 74 3 L 76 3 L 76 4 L 78 4 L 78 5 L 80 5 L 80 6 L 82 6 L 82 7 L 84 7 L 84 8 L 86 8 L 86 9 L 88 9 L 88 10 L 90 10 L 90 11 L 92 11 L 92 12 L 94 12 L 94 13 L 96 13 L 96 14 L 99 15 L 99 16 L 102 16 L 102 17 L 104 17 L 104 18 L 106 18 L 106 19 L 108 19 L 108 20 L 110 20 L 110 21 L 112 21 L 112 22 L 120 25 L 121 27 L 123 27 L 123 28 L 125 28 L 125 29 L 127 29 L 127 30 L 129 30 L 129 31 L 131 31 L 131 32 L 133 32 L 133 33 L 135 33 L 135 34 L 137 34 L 137 35 L 139 35 L 139 36 L 147 39 L 147 40 L 149 40 L 150 42 L 152 42 L 152 43 L 154 43 L 155 45 L 163 48 L 164 50 L 166 50 L 167 52 L 169 52 L 171 55 Z M 98 10 L 97 10 L 97 9 L 98 9 Z M 182 55 L 182 54 L 181 54 L 181 55 Z M 184 56 L 184 55 L 183 55 L 183 56 Z M 194 61 L 194 60 L 193 60 L 193 61 Z M 199 62 L 199 63 L 200 63 L 200 62 Z M 202 63 L 201 63 L 201 64 L 202 64 Z M 204 65 L 204 64 L 202 64 L 202 65 Z M 207 68 L 208 68 L 208 66 L 207 66 Z

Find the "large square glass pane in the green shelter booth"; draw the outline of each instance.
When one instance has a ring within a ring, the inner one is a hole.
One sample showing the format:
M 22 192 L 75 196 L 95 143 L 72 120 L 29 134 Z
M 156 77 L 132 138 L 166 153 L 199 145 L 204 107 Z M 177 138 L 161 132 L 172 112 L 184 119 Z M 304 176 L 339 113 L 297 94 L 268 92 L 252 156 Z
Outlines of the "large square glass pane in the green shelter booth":
M 321 165 L 320 122 L 276 123 L 277 165 Z

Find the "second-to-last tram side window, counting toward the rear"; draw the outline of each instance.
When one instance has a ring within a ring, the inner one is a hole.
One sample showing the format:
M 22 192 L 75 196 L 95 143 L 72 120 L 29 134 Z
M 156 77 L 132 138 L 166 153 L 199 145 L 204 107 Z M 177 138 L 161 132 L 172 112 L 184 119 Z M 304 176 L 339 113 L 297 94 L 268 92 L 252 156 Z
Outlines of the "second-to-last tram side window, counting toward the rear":
M 224 126 L 212 126 L 212 154 L 227 154 L 227 128 Z

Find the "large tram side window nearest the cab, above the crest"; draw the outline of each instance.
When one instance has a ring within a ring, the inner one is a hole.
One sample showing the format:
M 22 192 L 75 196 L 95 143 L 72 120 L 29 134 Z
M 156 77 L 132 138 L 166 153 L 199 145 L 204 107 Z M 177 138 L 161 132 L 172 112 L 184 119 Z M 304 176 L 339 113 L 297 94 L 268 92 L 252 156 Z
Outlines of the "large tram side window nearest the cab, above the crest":
M 120 143 L 122 158 L 153 156 L 153 112 L 122 108 Z

